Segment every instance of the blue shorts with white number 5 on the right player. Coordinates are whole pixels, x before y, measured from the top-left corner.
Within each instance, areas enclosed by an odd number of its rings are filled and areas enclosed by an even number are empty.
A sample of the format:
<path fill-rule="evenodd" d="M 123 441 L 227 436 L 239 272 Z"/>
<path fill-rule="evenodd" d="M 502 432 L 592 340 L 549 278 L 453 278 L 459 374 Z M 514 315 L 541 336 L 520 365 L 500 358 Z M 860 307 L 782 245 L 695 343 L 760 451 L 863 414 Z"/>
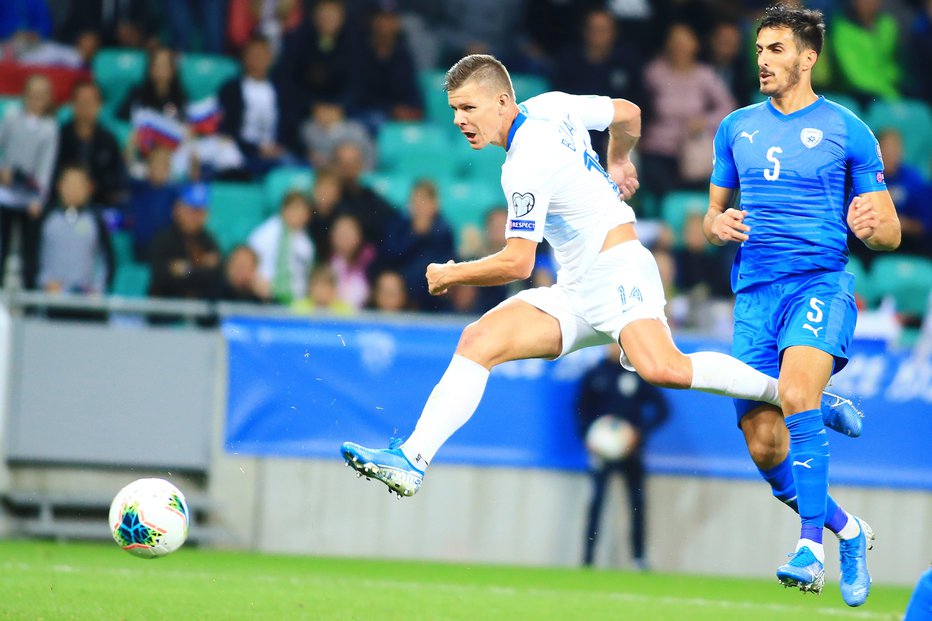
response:
<path fill-rule="evenodd" d="M 783 351 L 808 345 L 835 357 L 838 373 L 848 364 L 858 309 L 854 276 L 819 272 L 742 291 L 735 298 L 732 355 L 770 377 L 779 377 Z M 738 425 L 759 401 L 735 399 Z"/>

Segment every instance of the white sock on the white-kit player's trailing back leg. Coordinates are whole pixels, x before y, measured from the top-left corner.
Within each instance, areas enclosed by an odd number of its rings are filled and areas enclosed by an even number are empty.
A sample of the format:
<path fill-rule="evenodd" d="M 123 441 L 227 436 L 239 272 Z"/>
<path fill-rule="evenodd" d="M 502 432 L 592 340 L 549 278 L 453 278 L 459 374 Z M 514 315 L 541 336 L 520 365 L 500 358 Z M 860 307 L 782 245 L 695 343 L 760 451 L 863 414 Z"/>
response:
<path fill-rule="evenodd" d="M 687 354 L 693 362 L 690 388 L 734 399 L 763 401 L 780 406 L 777 380 L 752 369 L 737 358 L 714 351 Z"/>

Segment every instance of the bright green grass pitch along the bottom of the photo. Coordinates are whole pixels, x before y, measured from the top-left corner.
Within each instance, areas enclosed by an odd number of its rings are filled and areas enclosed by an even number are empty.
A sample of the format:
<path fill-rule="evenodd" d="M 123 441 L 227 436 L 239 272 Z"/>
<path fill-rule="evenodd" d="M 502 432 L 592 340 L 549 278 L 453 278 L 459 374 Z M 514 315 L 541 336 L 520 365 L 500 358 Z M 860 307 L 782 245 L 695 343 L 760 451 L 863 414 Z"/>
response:
<path fill-rule="evenodd" d="M 851 609 L 837 584 L 0 541 L 2 621 L 895 621 L 908 599 L 875 586 Z"/>

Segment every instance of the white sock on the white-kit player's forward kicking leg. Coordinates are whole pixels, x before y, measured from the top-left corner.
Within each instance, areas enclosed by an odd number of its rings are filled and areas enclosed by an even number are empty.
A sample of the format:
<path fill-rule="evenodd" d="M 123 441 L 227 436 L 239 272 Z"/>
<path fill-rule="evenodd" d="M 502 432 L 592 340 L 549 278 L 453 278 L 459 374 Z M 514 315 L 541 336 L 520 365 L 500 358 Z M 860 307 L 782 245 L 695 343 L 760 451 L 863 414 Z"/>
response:
<path fill-rule="evenodd" d="M 489 371 L 469 358 L 454 355 L 424 405 L 414 433 L 401 450 L 416 468 L 424 470 L 437 450 L 472 416 L 489 379 Z"/>

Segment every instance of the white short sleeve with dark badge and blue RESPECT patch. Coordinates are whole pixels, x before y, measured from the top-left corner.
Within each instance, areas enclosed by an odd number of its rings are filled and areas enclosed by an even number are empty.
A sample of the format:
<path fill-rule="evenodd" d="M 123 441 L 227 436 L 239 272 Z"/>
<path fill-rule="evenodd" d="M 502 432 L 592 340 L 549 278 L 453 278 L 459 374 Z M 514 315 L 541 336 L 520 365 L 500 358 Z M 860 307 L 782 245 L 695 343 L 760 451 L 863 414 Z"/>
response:
<path fill-rule="evenodd" d="M 539 157 L 539 150 L 533 145 L 522 145 L 524 153 L 536 156 L 516 157 L 502 175 L 502 190 L 508 203 L 508 222 L 505 225 L 505 238 L 520 237 L 540 242 L 544 239 L 544 224 L 547 221 L 547 208 L 554 191 L 553 170 L 550 166 L 535 165 L 546 162 Z M 535 152 L 537 151 L 537 152 Z"/>

